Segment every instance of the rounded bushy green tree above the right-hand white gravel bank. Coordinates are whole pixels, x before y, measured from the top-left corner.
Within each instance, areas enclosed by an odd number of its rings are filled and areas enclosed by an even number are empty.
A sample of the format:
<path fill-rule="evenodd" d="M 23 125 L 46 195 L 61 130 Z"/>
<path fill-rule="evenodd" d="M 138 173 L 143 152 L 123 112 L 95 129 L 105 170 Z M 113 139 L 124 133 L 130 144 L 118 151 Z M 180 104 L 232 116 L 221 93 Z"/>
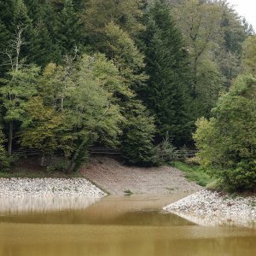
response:
<path fill-rule="evenodd" d="M 194 138 L 203 166 L 219 172 L 230 189 L 253 189 L 256 157 L 256 79 L 243 75 L 221 96 L 210 120 L 199 119 Z"/>

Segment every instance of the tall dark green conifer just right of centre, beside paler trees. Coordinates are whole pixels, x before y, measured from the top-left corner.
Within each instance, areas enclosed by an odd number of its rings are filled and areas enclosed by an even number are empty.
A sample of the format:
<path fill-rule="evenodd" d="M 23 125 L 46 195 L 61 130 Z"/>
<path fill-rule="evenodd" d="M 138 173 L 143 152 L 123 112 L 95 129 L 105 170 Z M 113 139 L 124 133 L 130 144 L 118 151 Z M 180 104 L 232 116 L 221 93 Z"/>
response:
<path fill-rule="evenodd" d="M 188 60 L 181 32 L 164 3 L 157 1 L 146 16 L 143 33 L 148 86 L 140 95 L 154 113 L 158 138 L 168 132 L 176 144 L 185 143 L 190 134 L 187 113 Z"/>

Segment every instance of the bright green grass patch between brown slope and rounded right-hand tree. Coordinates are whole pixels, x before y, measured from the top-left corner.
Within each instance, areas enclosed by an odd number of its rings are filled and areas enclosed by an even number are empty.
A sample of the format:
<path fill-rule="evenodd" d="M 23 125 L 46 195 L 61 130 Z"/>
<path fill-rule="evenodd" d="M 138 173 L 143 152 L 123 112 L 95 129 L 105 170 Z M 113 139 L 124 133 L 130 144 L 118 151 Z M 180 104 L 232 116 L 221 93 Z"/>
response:
<path fill-rule="evenodd" d="M 203 170 L 201 166 L 191 166 L 181 161 L 175 161 L 172 166 L 183 171 L 185 177 L 189 181 L 194 181 L 195 183 L 203 187 L 206 187 L 207 184 L 211 183 L 213 180 L 212 177 L 207 173 L 207 171 Z"/>

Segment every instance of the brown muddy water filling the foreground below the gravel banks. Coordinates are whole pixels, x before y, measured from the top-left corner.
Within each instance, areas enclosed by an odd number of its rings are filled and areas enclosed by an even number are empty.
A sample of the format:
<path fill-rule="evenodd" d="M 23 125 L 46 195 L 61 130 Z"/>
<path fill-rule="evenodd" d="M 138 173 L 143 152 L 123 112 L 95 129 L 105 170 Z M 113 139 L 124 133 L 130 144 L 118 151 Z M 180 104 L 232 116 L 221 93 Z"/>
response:
<path fill-rule="evenodd" d="M 256 255 L 256 230 L 161 211 L 183 196 L 0 199 L 0 256 Z"/>

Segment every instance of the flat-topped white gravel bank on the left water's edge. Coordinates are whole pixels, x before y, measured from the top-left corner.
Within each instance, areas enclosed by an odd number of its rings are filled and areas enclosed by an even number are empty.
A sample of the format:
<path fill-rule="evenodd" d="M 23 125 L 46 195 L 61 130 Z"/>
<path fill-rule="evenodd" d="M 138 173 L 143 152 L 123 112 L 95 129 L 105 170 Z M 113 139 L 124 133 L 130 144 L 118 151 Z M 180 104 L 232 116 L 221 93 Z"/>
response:
<path fill-rule="evenodd" d="M 0 199 L 26 196 L 88 196 L 106 193 L 85 178 L 0 178 Z"/>

